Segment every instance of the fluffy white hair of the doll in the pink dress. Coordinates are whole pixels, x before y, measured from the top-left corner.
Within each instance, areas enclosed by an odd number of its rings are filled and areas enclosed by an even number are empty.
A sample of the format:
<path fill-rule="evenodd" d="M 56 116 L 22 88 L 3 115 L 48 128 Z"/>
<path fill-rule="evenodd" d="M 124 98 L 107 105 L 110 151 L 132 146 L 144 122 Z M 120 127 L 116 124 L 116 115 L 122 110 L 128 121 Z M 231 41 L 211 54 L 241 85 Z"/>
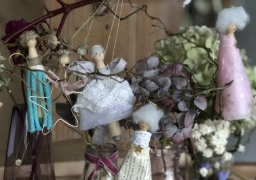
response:
<path fill-rule="evenodd" d="M 249 20 L 250 16 L 243 7 L 226 8 L 218 13 L 216 28 L 219 32 L 225 33 L 228 25 L 234 24 L 237 30 L 243 30 Z"/>

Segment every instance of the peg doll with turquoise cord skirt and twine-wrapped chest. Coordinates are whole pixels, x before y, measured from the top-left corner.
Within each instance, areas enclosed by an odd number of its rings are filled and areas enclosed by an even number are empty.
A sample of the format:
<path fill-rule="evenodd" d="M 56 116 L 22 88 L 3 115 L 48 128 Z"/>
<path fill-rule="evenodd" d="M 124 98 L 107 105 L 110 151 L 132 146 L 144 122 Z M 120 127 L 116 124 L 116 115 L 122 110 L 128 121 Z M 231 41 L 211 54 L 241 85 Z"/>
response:
<path fill-rule="evenodd" d="M 27 100 L 28 100 L 28 131 L 48 130 L 52 127 L 52 97 L 51 87 L 46 74 L 42 71 L 42 59 L 37 53 L 37 39 L 39 35 L 35 31 L 25 31 L 20 36 L 21 46 L 28 48 L 28 68 L 34 71 L 26 71 Z M 31 89 L 30 89 L 31 88 Z M 37 97 L 38 95 L 39 98 Z M 38 106 L 37 104 L 41 105 Z"/>

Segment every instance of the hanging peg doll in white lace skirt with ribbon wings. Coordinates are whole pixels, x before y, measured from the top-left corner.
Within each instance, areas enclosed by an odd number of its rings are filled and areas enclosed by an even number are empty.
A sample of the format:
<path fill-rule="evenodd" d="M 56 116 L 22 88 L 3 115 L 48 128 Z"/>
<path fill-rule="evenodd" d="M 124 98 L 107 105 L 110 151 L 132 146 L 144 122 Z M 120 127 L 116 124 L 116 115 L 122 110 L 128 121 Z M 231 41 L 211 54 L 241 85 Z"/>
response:
<path fill-rule="evenodd" d="M 100 45 L 92 47 L 92 59 L 101 74 L 114 74 L 126 66 L 122 58 L 115 59 L 105 66 L 105 51 Z M 94 64 L 88 61 L 75 61 L 69 65 L 70 70 L 92 73 Z M 77 74 L 79 75 L 79 74 Z M 84 75 L 80 75 L 85 78 Z M 80 113 L 80 130 L 88 130 L 109 124 L 113 140 L 121 141 L 119 120 L 132 115 L 133 92 L 129 83 L 116 76 L 104 77 L 95 75 L 78 95 L 74 111 Z"/>

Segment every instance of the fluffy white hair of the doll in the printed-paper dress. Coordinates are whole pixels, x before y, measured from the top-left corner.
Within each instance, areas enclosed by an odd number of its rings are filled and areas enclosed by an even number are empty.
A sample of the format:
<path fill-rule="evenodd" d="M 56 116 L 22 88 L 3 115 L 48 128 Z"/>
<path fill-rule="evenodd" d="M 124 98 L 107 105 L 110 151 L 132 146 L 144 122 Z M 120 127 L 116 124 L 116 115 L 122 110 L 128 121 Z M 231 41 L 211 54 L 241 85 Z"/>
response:
<path fill-rule="evenodd" d="M 149 131 L 151 132 L 158 131 L 159 121 L 163 116 L 164 112 L 152 104 L 146 104 L 132 114 L 133 121 L 136 124 L 149 124 Z"/>

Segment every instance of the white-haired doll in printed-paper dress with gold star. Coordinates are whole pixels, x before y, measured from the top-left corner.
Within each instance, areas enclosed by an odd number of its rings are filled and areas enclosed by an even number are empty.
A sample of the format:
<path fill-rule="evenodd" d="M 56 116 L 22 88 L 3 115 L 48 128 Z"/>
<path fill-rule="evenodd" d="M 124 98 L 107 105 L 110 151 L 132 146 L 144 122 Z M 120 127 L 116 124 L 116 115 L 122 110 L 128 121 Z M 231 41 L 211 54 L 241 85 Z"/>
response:
<path fill-rule="evenodd" d="M 163 111 L 152 104 L 144 105 L 132 114 L 133 121 L 138 124 L 140 131 L 134 132 L 131 149 L 125 156 L 117 180 L 152 179 L 149 142 L 151 132 L 158 131 L 163 115 Z"/>

